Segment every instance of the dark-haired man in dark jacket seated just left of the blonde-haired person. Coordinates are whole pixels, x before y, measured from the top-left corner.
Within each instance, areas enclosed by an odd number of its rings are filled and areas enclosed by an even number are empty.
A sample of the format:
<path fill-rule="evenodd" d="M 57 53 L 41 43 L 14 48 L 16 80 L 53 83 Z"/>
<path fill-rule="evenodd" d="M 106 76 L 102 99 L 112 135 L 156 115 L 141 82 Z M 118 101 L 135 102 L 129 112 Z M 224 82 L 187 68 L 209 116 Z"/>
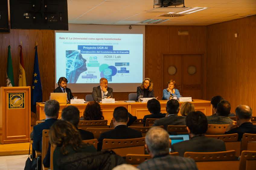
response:
<path fill-rule="evenodd" d="M 186 117 L 178 116 L 180 110 L 180 104 L 178 100 L 168 100 L 166 104 L 167 116 L 158 120 L 155 120 L 153 126 L 164 126 L 167 129 L 168 125 L 186 125 Z"/>

